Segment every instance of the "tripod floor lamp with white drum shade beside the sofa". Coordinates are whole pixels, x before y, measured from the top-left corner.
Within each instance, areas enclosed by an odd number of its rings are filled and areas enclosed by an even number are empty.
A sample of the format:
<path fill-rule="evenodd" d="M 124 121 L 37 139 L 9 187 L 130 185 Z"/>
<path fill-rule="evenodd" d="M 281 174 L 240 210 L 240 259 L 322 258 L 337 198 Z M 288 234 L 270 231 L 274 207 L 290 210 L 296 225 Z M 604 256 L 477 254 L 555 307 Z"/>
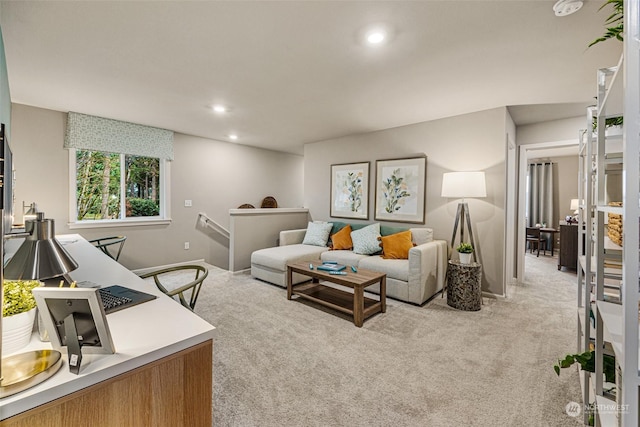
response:
<path fill-rule="evenodd" d="M 477 261 L 476 244 L 473 240 L 471 229 L 471 217 L 469 216 L 469 205 L 464 201 L 468 197 L 487 197 L 487 186 L 485 184 L 484 172 L 447 172 L 442 175 L 442 197 L 459 199 L 456 221 L 451 235 L 451 247 L 453 248 L 460 225 L 460 243 L 464 242 L 464 226 L 467 223 L 469 230 L 469 243 L 473 246 L 473 259 Z"/>

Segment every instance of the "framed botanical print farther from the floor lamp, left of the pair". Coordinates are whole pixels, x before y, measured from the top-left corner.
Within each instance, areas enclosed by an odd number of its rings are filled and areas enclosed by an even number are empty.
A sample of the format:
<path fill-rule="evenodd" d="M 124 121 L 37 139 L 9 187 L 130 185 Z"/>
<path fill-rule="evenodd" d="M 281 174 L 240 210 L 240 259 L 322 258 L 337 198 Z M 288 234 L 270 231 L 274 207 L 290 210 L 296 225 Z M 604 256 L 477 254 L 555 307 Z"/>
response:
<path fill-rule="evenodd" d="M 329 215 L 369 219 L 369 162 L 331 165 Z"/>

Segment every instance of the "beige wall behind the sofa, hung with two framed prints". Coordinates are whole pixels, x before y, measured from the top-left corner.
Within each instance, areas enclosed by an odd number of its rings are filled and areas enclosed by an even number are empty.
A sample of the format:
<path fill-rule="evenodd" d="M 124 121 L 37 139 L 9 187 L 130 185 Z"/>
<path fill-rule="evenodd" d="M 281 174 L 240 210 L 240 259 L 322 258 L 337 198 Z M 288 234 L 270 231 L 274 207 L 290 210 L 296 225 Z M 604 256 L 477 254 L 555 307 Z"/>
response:
<path fill-rule="evenodd" d="M 496 108 L 307 144 L 304 149 L 305 206 L 314 220 L 331 220 L 331 165 L 370 161 L 369 221 L 352 222 L 373 222 L 375 161 L 424 153 L 427 155 L 426 226 L 434 229 L 435 238 L 450 241 L 458 200 L 440 197 L 442 174 L 483 170 L 487 197 L 467 201 L 476 244 L 480 246 L 483 290 L 502 295 L 507 116 L 506 108 Z"/>

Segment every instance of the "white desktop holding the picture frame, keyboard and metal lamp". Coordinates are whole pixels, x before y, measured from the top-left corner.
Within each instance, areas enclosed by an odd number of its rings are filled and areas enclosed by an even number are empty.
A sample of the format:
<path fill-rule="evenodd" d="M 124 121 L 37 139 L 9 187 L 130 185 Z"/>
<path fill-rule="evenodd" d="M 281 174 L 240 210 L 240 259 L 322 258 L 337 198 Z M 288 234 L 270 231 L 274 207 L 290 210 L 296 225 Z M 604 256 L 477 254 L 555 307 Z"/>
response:
<path fill-rule="evenodd" d="M 107 315 L 115 354 L 83 354 L 80 375 L 75 375 L 69 372 L 67 355 L 63 353 L 63 365 L 51 378 L 0 399 L 0 420 L 213 338 L 213 326 L 164 295 L 153 283 L 145 282 L 107 257 L 80 235 L 62 235 L 57 239 L 79 265 L 70 273 L 73 280 L 88 280 L 100 286 L 122 285 L 158 298 Z M 36 333 L 31 343 L 17 353 L 45 348 L 51 348 L 50 343 L 40 341 Z"/>

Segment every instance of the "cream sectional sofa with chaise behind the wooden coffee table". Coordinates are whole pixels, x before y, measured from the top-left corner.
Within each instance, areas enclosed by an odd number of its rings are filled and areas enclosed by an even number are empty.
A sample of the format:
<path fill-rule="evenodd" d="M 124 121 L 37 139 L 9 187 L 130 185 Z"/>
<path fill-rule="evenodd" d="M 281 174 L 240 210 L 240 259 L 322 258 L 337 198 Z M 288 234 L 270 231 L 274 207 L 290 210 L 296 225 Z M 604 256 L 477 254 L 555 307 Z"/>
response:
<path fill-rule="evenodd" d="M 356 226 L 357 227 L 357 226 Z M 387 227 L 387 234 L 398 230 Z M 251 255 L 253 277 L 286 287 L 287 264 L 295 261 L 336 261 L 387 274 L 387 296 L 414 304 L 423 304 L 444 287 L 448 259 L 448 245 L 433 240 L 430 228 L 409 228 L 416 246 L 409 249 L 408 259 L 384 259 L 380 255 L 361 255 L 351 250 L 331 250 L 328 246 L 303 244 L 305 229 L 280 232 L 280 246 L 260 249 Z M 382 235 L 385 235 L 383 227 Z M 294 283 L 309 280 L 308 276 L 293 275 Z M 379 285 L 366 290 L 379 292 Z"/>

